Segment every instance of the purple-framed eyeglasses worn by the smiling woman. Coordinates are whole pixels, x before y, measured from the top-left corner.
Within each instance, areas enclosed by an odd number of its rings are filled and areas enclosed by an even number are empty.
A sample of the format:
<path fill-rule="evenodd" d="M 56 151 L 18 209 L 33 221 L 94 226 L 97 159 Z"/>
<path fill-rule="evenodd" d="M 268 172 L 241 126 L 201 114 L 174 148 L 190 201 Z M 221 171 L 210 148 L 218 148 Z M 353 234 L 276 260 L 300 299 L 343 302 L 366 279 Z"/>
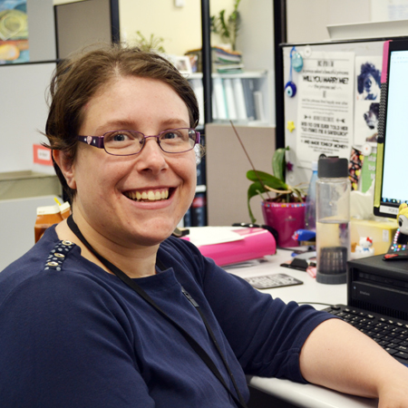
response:
<path fill-rule="evenodd" d="M 104 149 L 113 156 L 131 156 L 141 152 L 148 138 L 156 138 L 160 149 L 166 153 L 184 153 L 199 144 L 199 131 L 190 128 L 169 129 L 151 136 L 140 131 L 107 131 L 102 136 L 78 136 L 78 141 Z"/>

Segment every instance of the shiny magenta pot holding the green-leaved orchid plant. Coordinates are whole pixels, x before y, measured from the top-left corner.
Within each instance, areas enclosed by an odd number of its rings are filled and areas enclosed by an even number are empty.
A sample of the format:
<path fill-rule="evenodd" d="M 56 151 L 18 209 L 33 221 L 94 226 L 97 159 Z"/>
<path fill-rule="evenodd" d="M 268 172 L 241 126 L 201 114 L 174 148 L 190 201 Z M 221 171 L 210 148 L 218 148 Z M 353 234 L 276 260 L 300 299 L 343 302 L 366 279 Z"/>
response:
<path fill-rule="evenodd" d="M 277 230 L 277 247 L 297 247 L 299 242 L 292 238 L 297 229 L 305 228 L 304 202 L 262 201 L 265 224 Z"/>

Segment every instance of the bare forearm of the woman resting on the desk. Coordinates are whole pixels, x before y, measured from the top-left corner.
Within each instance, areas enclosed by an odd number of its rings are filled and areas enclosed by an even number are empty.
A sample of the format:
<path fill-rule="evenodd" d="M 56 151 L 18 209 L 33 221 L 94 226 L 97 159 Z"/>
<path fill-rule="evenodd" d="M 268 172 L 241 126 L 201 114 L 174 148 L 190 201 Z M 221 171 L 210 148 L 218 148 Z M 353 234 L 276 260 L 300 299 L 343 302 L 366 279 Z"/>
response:
<path fill-rule="evenodd" d="M 327 320 L 307 337 L 300 370 L 310 383 L 378 397 L 379 408 L 408 407 L 408 368 L 341 320 Z"/>

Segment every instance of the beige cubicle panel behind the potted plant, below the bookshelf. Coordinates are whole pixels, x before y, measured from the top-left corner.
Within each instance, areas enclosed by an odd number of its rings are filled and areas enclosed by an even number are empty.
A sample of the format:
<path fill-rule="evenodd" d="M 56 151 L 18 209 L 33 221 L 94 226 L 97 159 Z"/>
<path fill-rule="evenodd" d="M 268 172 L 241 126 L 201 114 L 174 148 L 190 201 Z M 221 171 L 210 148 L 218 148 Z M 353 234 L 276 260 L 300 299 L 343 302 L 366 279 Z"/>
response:
<path fill-rule="evenodd" d="M 257 170 L 272 171 L 275 128 L 236 126 Z M 251 168 L 230 124 L 209 123 L 205 129 L 207 160 L 207 209 L 209 226 L 249 222 L 247 191 Z M 251 200 L 259 224 L 263 224 L 260 199 Z"/>

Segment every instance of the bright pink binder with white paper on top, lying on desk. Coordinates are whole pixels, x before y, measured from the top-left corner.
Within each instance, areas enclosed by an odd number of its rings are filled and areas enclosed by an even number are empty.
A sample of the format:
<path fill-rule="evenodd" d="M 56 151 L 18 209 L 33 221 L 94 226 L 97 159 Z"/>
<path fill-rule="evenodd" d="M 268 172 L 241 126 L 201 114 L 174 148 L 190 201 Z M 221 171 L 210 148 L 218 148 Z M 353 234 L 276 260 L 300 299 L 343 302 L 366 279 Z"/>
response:
<path fill-rule="evenodd" d="M 189 228 L 187 239 L 219 267 L 257 259 L 277 252 L 274 236 L 265 228 Z"/>

